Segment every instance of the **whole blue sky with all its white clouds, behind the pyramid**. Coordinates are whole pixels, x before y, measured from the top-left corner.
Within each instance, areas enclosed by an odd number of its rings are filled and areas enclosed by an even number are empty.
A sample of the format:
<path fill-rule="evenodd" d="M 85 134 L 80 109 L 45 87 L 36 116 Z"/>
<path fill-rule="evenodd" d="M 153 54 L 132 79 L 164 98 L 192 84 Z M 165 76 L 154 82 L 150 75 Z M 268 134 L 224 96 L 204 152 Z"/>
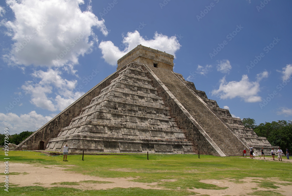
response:
<path fill-rule="evenodd" d="M 292 120 L 292 1 L 0 2 L 0 128 L 35 131 L 138 44 L 234 117 Z"/>

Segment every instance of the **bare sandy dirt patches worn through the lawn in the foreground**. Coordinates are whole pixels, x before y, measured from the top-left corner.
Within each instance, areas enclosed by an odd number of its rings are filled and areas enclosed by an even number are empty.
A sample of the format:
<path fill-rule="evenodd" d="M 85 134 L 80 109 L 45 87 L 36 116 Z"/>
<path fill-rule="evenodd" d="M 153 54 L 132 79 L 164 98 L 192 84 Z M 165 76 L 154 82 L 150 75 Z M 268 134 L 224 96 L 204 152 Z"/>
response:
<path fill-rule="evenodd" d="M 262 157 L 263 158 L 263 157 Z M 259 157 L 256 157 L 259 159 Z M 273 161 L 272 157 L 266 157 L 267 161 Z M 278 160 L 277 160 L 278 161 Z M 291 161 L 283 159 L 284 162 Z M 5 164 L 0 164 L 0 170 L 4 171 Z M 10 172 L 18 172 L 21 174 L 18 175 L 9 175 L 9 183 L 17 184 L 18 186 L 34 186 L 39 185 L 43 187 L 74 187 L 83 190 L 100 190 L 108 188 L 131 188 L 131 187 L 140 187 L 144 189 L 162 189 L 160 187 L 155 187 L 158 183 L 138 183 L 132 182 L 130 180 L 134 178 L 100 178 L 89 175 L 82 175 L 78 173 L 64 171 L 65 168 L 59 166 L 36 166 L 32 164 L 25 163 L 9 163 Z M 5 175 L 0 176 L 0 181 L 4 182 Z M 209 183 L 218 185 L 220 187 L 228 187 L 224 190 L 210 190 L 210 189 L 191 189 L 189 191 L 197 192 L 200 194 L 208 195 L 247 195 L 258 190 L 273 190 L 281 193 L 282 195 L 291 195 L 292 185 L 278 185 L 278 189 L 266 189 L 260 188 L 257 183 L 251 182 L 254 180 L 261 180 L 263 178 L 244 178 L 239 183 L 234 179 L 222 179 L 222 180 L 201 180 L 202 183 Z M 82 180 L 97 180 L 97 181 L 109 181 L 112 183 L 81 183 Z M 264 180 L 264 179 L 263 179 Z M 290 183 L 279 181 L 277 178 L 269 179 L 277 183 Z M 173 180 L 162 180 L 162 181 L 175 181 Z M 61 182 L 80 182 L 80 185 L 51 185 L 52 183 L 61 183 Z M 152 186 L 150 186 L 152 185 Z"/>

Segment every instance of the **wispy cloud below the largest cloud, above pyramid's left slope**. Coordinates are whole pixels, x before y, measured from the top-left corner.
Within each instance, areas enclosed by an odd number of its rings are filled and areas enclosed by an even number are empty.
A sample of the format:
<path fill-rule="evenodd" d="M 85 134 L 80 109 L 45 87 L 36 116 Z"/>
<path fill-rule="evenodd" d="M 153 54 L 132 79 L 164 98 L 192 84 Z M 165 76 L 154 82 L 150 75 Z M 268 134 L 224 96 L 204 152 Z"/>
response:
<path fill-rule="evenodd" d="M 61 75 L 62 72 L 58 69 L 35 70 L 32 76 L 41 80 L 26 81 L 21 88 L 26 94 L 31 94 L 30 102 L 35 106 L 50 111 L 63 110 L 81 97 L 84 92 L 74 93 L 77 80 L 69 81 L 63 79 Z M 58 95 L 55 96 L 53 91 Z"/>

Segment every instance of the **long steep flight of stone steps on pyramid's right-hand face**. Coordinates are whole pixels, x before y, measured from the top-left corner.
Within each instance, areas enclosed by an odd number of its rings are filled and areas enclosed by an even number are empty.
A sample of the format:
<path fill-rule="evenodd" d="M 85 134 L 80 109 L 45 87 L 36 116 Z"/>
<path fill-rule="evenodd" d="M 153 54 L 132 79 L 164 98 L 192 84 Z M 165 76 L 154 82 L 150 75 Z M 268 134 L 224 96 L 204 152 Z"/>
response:
<path fill-rule="evenodd" d="M 151 67 L 154 74 L 178 99 L 226 156 L 242 155 L 246 146 L 208 108 L 199 96 L 187 88 L 172 71 Z"/>

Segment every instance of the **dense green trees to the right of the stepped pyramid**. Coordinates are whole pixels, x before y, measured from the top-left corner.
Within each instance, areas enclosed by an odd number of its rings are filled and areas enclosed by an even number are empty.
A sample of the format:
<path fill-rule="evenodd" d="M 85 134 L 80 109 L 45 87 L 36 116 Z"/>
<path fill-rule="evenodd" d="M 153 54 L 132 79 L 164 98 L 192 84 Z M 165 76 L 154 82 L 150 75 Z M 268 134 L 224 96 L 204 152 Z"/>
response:
<path fill-rule="evenodd" d="M 242 119 L 245 127 L 252 128 L 259 137 L 266 137 L 272 146 L 280 146 L 283 152 L 292 150 L 292 121 L 278 120 L 256 125 L 252 118 Z"/>

